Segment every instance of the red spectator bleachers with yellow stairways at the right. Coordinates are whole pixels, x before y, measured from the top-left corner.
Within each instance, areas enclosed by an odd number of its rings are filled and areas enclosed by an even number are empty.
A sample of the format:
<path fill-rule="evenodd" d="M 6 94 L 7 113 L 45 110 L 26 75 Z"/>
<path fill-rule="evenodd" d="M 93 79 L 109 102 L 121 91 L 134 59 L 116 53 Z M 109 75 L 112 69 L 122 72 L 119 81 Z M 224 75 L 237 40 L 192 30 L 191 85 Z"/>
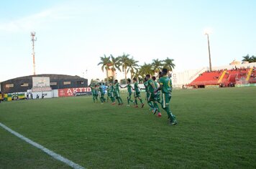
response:
<path fill-rule="evenodd" d="M 204 87 L 206 85 L 220 85 L 231 87 L 234 84 L 256 83 L 255 68 L 221 69 L 200 74 L 190 86 Z"/>

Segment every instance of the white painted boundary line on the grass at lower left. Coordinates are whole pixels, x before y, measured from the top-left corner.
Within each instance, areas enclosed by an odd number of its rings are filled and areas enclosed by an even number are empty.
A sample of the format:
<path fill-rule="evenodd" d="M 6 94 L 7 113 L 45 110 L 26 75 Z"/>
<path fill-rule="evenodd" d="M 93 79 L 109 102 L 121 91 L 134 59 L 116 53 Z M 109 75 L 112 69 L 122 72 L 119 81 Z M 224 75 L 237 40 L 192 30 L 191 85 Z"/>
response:
<path fill-rule="evenodd" d="M 76 169 L 84 169 L 81 165 L 78 165 L 76 163 L 73 163 L 73 161 L 68 160 L 67 158 L 63 158 L 63 156 L 58 155 L 57 153 L 54 153 L 53 151 L 45 148 L 44 146 L 35 143 L 34 141 L 30 140 L 27 137 L 24 137 L 23 135 L 20 135 L 18 132 L 15 132 L 14 130 L 10 129 L 9 127 L 7 127 L 6 125 L 2 124 L 0 122 L 0 126 L 3 127 L 5 130 L 11 132 L 13 135 L 19 137 L 20 139 L 24 140 L 25 142 L 29 143 L 30 145 L 33 145 L 34 147 L 44 151 L 45 153 L 47 153 L 48 155 L 52 156 L 52 158 L 55 158 L 56 160 L 60 160 L 61 162 L 69 165 L 72 168 L 76 168 Z"/>

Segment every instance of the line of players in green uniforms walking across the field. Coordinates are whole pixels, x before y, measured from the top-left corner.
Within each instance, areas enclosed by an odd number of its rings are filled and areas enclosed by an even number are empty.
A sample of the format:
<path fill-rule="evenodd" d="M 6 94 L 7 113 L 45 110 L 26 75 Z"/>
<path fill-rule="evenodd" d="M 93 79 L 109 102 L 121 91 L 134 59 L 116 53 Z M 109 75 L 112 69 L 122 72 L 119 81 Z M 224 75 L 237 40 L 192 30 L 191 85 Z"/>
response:
<path fill-rule="evenodd" d="M 159 73 L 159 79 L 158 82 L 155 81 L 155 77 L 150 77 L 150 74 L 147 74 L 145 77 L 145 91 L 147 96 L 147 104 L 150 106 L 150 110 L 155 115 L 161 117 L 160 109 L 158 107 L 158 103 L 162 106 L 163 110 L 167 112 L 168 115 L 168 122 L 170 122 L 170 125 L 176 125 L 177 120 L 175 119 L 175 115 L 170 110 L 170 99 L 171 99 L 171 92 L 172 92 L 172 82 L 170 77 L 167 76 L 168 70 L 163 69 L 162 72 Z M 109 102 L 109 99 L 111 100 L 111 104 L 115 105 L 116 100 L 118 102 L 118 105 L 123 105 L 122 98 L 120 97 L 120 90 L 121 88 L 127 88 L 128 96 L 127 96 L 127 102 L 130 106 L 130 103 L 132 102 L 134 104 L 134 107 L 138 107 L 138 100 L 140 100 L 141 107 L 144 107 L 144 103 L 142 101 L 142 97 L 140 96 L 140 90 L 142 88 L 139 87 L 139 84 L 137 82 L 136 78 L 133 78 L 134 88 L 131 84 L 131 79 L 127 79 L 127 85 L 122 87 L 120 86 L 118 80 L 114 80 L 114 84 L 109 83 L 108 87 L 103 83 L 92 85 L 91 92 L 93 95 L 93 102 L 98 102 L 98 97 L 101 101 L 101 104 L 104 102 Z M 105 99 L 105 89 L 107 91 L 107 98 Z M 132 90 L 134 90 L 134 100 L 132 100 Z M 161 91 L 161 92 L 160 92 Z M 162 93 L 162 95 L 161 95 Z M 161 98 L 160 98 L 161 97 Z"/>

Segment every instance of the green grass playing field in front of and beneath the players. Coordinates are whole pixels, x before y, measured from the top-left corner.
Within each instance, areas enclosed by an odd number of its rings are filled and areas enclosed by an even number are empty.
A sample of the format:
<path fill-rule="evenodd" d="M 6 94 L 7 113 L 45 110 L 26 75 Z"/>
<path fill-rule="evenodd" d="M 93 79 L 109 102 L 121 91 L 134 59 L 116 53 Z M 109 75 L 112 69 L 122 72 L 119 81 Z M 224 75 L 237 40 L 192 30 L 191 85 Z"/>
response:
<path fill-rule="evenodd" d="M 126 95 L 122 95 L 126 102 Z M 175 90 L 167 115 L 91 97 L 0 104 L 0 122 L 85 168 L 256 168 L 256 87 Z M 68 168 L 0 127 L 0 168 Z"/>

